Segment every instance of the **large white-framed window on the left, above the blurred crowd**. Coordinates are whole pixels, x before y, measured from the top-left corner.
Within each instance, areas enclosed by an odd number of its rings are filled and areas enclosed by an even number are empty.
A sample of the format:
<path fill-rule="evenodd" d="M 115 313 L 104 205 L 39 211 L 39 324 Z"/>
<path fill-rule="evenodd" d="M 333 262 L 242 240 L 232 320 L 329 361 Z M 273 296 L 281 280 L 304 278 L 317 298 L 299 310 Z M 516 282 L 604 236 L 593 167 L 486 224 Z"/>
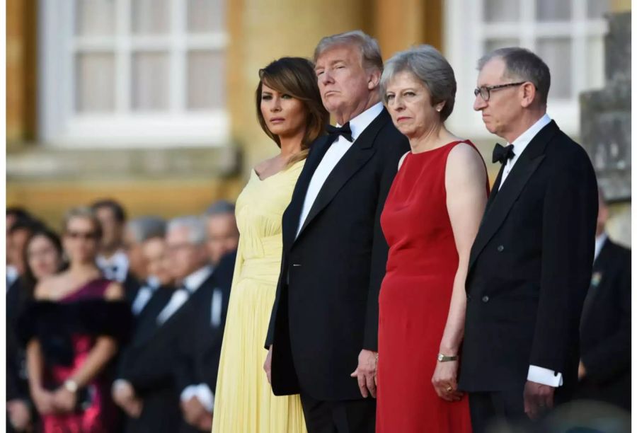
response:
<path fill-rule="evenodd" d="M 40 132 L 61 146 L 222 145 L 222 0 L 40 0 Z"/>

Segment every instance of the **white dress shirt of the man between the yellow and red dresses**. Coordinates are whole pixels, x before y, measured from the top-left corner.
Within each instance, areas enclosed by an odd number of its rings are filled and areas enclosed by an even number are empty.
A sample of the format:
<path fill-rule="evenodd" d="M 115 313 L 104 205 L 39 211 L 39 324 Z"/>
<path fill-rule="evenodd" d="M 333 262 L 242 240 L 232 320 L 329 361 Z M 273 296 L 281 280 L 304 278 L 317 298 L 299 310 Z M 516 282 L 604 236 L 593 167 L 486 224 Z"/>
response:
<path fill-rule="evenodd" d="M 352 120 L 350 120 L 350 129 L 352 129 L 352 138 L 353 142 L 349 142 L 348 139 L 343 137 L 342 135 L 338 136 L 338 139 L 335 140 L 330 146 L 330 148 L 326 151 L 325 156 L 321 159 L 319 166 L 316 167 L 316 171 L 312 175 L 309 186 L 307 187 L 307 192 L 305 194 L 305 201 L 303 202 L 303 209 L 301 211 L 301 218 L 299 219 L 299 226 L 297 228 L 297 236 L 299 236 L 299 232 L 301 231 L 301 227 L 303 226 L 307 215 L 316 200 L 316 197 L 319 195 L 321 188 L 323 187 L 323 183 L 325 183 L 328 175 L 332 173 L 334 167 L 340 161 L 341 158 L 345 155 L 345 153 L 350 150 L 352 144 L 356 142 L 356 139 L 365 131 L 365 128 L 369 126 L 370 123 L 374 121 L 376 117 L 382 112 L 383 104 L 377 103 L 376 105 L 372 105 L 367 108 L 367 110 L 357 115 Z M 336 125 L 337 127 L 341 127 L 343 125 Z"/>

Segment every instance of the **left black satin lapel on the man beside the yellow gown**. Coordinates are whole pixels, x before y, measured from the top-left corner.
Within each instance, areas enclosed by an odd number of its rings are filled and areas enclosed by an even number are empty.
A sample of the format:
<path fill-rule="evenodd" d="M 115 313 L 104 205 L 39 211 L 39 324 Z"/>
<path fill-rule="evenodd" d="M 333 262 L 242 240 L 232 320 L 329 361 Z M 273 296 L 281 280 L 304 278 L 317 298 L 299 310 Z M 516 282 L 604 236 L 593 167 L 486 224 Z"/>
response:
<path fill-rule="evenodd" d="M 285 249 L 289 249 L 289 247 L 292 246 L 292 243 L 294 243 L 294 237 L 297 235 L 299 219 L 301 219 L 301 212 L 303 210 L 307 188 L 309 187 L 312 175 L 314 175 L 316 168 L 319 166 L 319 163 L 321 163 L 321 160 L 323 159 L 323 156 L 325 156 L 326 151 L 329 149 L 330 144 L 332 144 L 330 139 L 331 137 L 326 135 L 316 139 L 316 142 L 312 144 L 311 151 L 307 156 L 303 170 L 297 179 L 297 184 L 294 185 L 292 199 L 283 214 L 282 238 L 283 248 Z"/>

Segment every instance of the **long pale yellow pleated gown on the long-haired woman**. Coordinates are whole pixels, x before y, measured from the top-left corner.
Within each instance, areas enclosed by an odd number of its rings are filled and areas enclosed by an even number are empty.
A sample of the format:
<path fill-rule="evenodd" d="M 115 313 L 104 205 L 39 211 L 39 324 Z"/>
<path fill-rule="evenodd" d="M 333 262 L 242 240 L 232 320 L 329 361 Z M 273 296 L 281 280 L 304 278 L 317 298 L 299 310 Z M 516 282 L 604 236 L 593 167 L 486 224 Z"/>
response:
<path fill-rule="evenodd" d="M 236 200 L 239 250 L 224 331 L 213 433 L 306 432 L 299 396 L 272 394 L 263 348 L 281 267 L 281 218 L 304 161 L 250 180 Z"/>

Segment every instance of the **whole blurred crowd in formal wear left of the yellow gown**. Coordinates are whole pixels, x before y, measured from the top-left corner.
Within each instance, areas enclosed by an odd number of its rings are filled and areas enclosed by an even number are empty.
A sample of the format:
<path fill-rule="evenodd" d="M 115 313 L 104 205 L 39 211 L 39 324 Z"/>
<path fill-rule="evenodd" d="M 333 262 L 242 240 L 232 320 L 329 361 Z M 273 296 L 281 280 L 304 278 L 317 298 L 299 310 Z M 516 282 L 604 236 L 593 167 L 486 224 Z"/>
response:
<path fill-rule="evenodd" d="M 61 230 L 6 209 L 7 431 L 210 431 L 239 231 L 234 204 Z"/>

